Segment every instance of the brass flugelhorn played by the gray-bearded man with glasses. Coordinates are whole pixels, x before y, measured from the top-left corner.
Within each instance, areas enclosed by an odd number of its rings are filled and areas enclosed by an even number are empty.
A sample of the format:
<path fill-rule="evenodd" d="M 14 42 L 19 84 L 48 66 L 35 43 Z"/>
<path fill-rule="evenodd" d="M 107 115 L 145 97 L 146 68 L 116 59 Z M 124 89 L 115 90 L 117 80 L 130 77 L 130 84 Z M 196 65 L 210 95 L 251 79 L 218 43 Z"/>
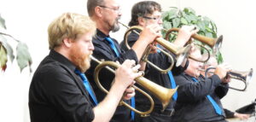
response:
<path fill-rule="evenodd" d="M 120 24 L 125 26 L 125 24 L 122 24 L 122 23 L 120 23 Z M 136 30 L 143 31 L 143 27 L 142 26 L 131 26 L 131 27 L 125 26 L 125 27 L 128 28 L 128 30 L 125 32 L 125 36 L 124 36 L 125 45 L 126 45 L 127 49 L 131 49 L 130 45 L 128 44 L 128 39 L 127 39 L 129 34 L 131 32 L 135 32 L 139 35 L 139 32 L 137 32 Z M 154 41 L 157 42 L 158 44 L 160 44 L 165 49 L 171 51 L 174 55 L 177 55 L 177 57 L 176 57 L 176 67 L 180 66 L 183 63 L 183 61 L 186 59 L 186 57 L 189 53 L 189 50 L 191 49 L 191 45 L 187 45 L 186 47 L 178 47 L 177 45 L 166 41 L 164 38 L 156 38 Z M 158 48 L 158 49 L 160 49 L 160 48 Z M 166 56 L 168 56 L 172 60 L 172 64 L 167 69 L 161 69 L 160 67 L 155 66 L 154 63 L 148 61 L 148 55 L 150 54 L 150 47 L 149 46 L 144 51 L 142 61 L 147 62 L 152 67 L 159 70 L 160 73 L 167 73 L 168 71 L 170 71 L 172 69 L 172 67 L 174 65 L 174 59 L 172 58 L 172 55 L 170 55 L 165 50 L 160 49 L 160 51 L 163 52 Z"/>

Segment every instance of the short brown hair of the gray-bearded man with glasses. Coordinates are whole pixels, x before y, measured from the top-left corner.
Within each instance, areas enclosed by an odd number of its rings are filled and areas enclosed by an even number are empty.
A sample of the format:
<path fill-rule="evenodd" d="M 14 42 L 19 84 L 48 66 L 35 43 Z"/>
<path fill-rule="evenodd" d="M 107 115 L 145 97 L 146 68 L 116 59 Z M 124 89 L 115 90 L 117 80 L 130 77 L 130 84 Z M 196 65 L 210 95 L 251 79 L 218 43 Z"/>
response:
<path fill-rule="evenodd" d="M 102 4 L 105 4 L 104 0 L 88 0 L 87 1 L 87 12 L 88 15 L 91 17 L 95 14 L 94 9 L 96 8 L 96 6 L 100 6 Z"/>

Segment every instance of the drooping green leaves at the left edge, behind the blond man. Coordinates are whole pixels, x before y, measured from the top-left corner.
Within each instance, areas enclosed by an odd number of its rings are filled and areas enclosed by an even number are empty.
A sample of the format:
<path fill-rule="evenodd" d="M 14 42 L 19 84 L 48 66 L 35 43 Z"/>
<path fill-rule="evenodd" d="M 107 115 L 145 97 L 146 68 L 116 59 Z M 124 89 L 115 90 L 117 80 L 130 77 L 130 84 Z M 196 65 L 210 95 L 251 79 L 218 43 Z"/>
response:
<path fill-rule="evenodd" d="M 0 15 L 0 70 L 2 69 L 5 71 L 7 68 L 6 63 L 8 60 L 12 62 L 14 61 L 14 50 L 8 42 L 15 41 L 18 43 L 16 46 L 16 60 L 18 62 L 18 66 L 20 67 L 20 72 L 23 70 L 23 68 L 28 66 L 30 73 L 32 73 L 32 58 L 28 51 L 27 45 L 4 31 L 6 31 L 5 20 Z"/>

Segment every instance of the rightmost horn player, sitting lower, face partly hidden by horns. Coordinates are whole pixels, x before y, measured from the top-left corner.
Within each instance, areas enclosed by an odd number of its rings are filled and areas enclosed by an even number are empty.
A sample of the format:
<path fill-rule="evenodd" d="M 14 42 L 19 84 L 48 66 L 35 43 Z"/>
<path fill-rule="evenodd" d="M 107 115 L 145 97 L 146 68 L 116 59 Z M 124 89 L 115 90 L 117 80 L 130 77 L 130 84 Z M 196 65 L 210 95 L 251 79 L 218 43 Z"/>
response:
<path fill-rule="evenodd" d="M 195 47 L 190 55 L 201 59 L 200 49 Z M 227 94 L 228 89 L 218 86 L 230 82 L 230 80 L 223 80 L 226 73 L 230 71 L 230 67 L 228 65 L 216 67 L 210 78 L 204 78 L 200 74 L 201 68 L 201 62 L 189 59 L 189 67 L 184 73 L 174 77 L 179 88 L 176 112 L 172 116 L 172 121 L 225 121 L 220 99 Z"/>

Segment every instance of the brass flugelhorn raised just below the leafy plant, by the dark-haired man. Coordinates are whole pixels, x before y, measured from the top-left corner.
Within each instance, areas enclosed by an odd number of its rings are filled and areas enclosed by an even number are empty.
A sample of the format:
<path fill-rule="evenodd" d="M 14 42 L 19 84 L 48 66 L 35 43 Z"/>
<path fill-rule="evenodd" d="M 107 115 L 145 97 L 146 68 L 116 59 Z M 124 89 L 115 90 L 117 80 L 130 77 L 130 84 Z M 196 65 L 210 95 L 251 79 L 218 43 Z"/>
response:
<path fill-rule="evenodd" d="M 172 32 L 178 32 L 179 31 L 179 28 L 176 28 L 176 27 L 173 27 L 171 29 L 169 29 L 167 32 L 166 32 L 166 40 L 169 39 L 170 37 L 170 34 Z M 195 38 L 196 40 L 200 41 L 202 44 L 207 44 L 209 47 L 211 47 L 213 49 L 213 54 L 216 54 L 219 49 L 221 48 L 221 45 L 222 45 L 222 41 L 223 41 L 223 36 L 219 36 L 218 38 L 207 38 L 205 36 L 201 36 L 199 34 L 194 34 L 191 36 L 191 38 Z M 192 41 L 189 41 L 189 43 L 192 43 Z M 201 48 L 207 50 L 207 58 L 206 59 L 195 59 L 194 57 L 192 56 L 189 56 L 191 59 L 195 60 L 195 61 L 201 61 L 201 62 L 206 62 L 209 60 L 210 58 L 210 51 L 209 49 L 207 49 L 206 47 L 202 46 L 201 44 L 196 44 L 198 46 L 200 46 Z"/>

